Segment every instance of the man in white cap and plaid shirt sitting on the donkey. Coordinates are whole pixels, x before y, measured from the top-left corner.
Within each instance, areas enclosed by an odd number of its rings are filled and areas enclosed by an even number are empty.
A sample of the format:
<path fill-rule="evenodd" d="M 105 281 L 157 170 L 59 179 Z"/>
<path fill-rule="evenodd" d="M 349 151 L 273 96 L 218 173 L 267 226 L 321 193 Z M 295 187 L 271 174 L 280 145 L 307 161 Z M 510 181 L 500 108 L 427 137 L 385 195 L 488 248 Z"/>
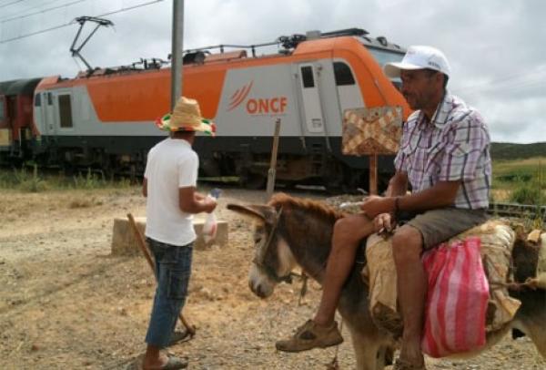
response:
<path fill-rule="evenodd" d="M 411 46 L 400 63 L 384 70 L 401 78 L 401 92 L 415 110 L 404 124 L 396 172 L 384 197 L 368 197 L 362 212 L 336 222 L 319 310 L 276 345 L 280 351 L 299 352 L 340 344 L 334 316 L 359 243 L 398 224 L 392 252 L 404 332 L 394 368 L 424 369 L 420 339 L 427 281 L 420 256 L 487 220 L 490 135 L 480 114 L 446 89 L 450 66 L 440 50 Z"/>

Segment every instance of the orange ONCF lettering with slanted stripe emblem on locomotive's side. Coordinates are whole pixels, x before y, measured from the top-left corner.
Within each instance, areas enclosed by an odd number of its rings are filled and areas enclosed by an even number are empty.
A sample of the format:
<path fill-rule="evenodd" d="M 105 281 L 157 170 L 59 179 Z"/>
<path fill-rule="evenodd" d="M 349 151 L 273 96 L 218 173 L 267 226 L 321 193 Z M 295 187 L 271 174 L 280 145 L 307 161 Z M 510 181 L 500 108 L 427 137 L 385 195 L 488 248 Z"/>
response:
<path fill-rule="evenodd" d="M 287 97 L 274 97 L 274 98 L 248 98 L 250 89 L 254 81 L 249 82 L 244 87 L 237 89 L 230 98 L 229 107 L 227 111 L 231 111 L 245 102 L 245 108 L 248 114 L 261 115 L 261 114 L 284 114 L 288 106 Z"/>

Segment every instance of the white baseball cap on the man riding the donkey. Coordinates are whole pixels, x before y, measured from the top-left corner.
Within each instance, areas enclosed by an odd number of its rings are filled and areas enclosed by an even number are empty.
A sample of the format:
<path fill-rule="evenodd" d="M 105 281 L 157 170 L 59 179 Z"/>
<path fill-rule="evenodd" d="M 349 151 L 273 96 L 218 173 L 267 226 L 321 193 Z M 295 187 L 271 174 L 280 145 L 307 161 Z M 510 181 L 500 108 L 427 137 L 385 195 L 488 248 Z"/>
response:
<path fill-rule="evenodd" d="M 450 76 L 450 63 L 448 58 L 438 50 L 431 46 L 410 46 L 406 55 L 399 63 L 387 63 L 383 70 L 388 77 L 400 77 L 402 69 L 434 69 Z"/>

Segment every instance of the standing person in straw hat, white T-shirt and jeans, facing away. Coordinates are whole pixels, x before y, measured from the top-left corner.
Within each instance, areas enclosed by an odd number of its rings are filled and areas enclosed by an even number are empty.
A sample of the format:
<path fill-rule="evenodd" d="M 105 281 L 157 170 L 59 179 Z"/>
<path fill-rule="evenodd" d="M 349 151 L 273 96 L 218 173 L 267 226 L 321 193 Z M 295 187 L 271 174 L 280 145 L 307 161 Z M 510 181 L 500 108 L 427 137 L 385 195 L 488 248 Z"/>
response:
<path fill-rule="evenodd" d="M 156 261 L 157 289 L 147 330 L 142 368 L 180 369 L 187 362 L 160 350 L 169 344 L 187 296 L 194 213 L 212 212 L 216 200 L 197 193 L 199 159 L 191 148 L 197 131 L 214 135 L 214 123 L 201 117 L 196 100 L 180 98 L 172 115 L 158 119 L 169 138 L 150 149 L 142 192 L 147 197 L 146 236 Z"/>

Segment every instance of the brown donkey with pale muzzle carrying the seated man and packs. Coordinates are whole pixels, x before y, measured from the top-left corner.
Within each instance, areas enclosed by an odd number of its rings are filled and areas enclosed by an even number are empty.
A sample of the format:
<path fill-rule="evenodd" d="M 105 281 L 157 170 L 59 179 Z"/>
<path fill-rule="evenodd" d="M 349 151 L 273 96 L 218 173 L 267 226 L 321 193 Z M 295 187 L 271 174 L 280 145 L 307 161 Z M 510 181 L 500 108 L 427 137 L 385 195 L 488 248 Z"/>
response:
<path fill-rule="evenodd" d="M 258 297 L 267 298 L 278 283 L 288 281 L 296 265 L 322 284 L 334 223 L 343 213 L 322 202 L 283 193 L 276 194 L 267 205 L 228 204 L 227 209 L 258 221 L 254 231 L 256 252 L 248 276 L 250 290 Z M 521 246 L 514 248 L 514 253 L 517 254 L 515 261 L 521 263 L 515 275 L 523 282 L 533 275 L 533 263 L 536 269 L 538 251 Z M 379 370 L 391 363 L 397 343 L 392 334 L 379 329 L 372 321 L 368 287 L 360 276 L 362 267 L 355 263 L 350 272 L 338 311 L 349 327 L 357 368 Z M 486 347 L 500 341 L 511 328 L 517 328 L 529 335 L 546 357 L 546 292 L 521 291 L 514 296 L 521 300 L 520 310 L 511 325 L 488 336 Z"/>

